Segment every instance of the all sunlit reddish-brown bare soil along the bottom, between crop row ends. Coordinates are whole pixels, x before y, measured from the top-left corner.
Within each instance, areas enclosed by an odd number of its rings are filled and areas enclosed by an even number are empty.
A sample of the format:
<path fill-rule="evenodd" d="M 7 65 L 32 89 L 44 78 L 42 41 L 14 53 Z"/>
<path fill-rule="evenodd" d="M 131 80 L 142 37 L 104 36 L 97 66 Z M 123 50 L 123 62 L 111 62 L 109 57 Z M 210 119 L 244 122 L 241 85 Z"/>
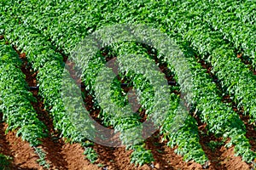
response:
<path fill-rule="evenodd" d="M 22 141 L 15 136 L 15 133 L 3 134 L 3 130 L 7 127 L 4 123 L 0 125 L 0 152 L 4 155 L 13 157 L 12 169 L 43 169 L 38 166 L 36 160 L 38 156 L 28 143 Z M 156 133 L 147 140 L 147 147 L 154 154 L 153 165 L 145 165 L 143 167 L 135 167 L 130 164 L 131 150 L 125 148 L 109 148 L 95 144 L 95 150 L 99 154 L 96 165 L 90 164 L 84 159 L 83 148 L 79 144 L 65 144 L 63 140 L 44 141 L 43 149 L 48 153 L 47 160 L 52 163 L 50 169 L 103 169 L 108 167 L 111 169 L 203 169 L 201 165 L 194 161 L 184 162 L 182 156 L 177 156 L 174 149 L 166 146 L 166 143 L 160 143 L 160 137 Z M 203 149 L 209 158 L 208 169 L 249 169 L 249 165 L 241 161 L 241 157 L 234 156 L 233 147 L 230 149 L 221 146 L 212 151 L 206 144 L 211 140 L 208 137 L 201 139 Z M 54 144 L 53 144 L 54 143 Z M 45 145 L 47 147 L 45 148 Z M 100 166 L 101 165 L 101 166 Z"/>

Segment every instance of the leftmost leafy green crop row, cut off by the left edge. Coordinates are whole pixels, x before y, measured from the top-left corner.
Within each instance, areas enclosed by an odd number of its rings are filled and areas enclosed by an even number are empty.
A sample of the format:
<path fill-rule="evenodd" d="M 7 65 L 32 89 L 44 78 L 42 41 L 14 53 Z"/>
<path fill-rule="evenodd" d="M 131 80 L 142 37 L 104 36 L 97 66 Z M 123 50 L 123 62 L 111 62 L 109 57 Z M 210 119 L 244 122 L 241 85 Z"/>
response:
<path fill-rule="evenodd" d="M 6 133 L 17 130 L 17 136 L 26 140 L 38 154 L 38 162 L 49 167 L 45 161 L 45 153 L 38 146 L 41 139 L 47 137 L 48 131 L 38 119 L 37 112 L 31 102 L 36 99 L 28 91 L 26 75 L 20 70 L 22 61 L 11 45 L 0 41 L 0 112 L 3 121 L 7 122 Z"/>

